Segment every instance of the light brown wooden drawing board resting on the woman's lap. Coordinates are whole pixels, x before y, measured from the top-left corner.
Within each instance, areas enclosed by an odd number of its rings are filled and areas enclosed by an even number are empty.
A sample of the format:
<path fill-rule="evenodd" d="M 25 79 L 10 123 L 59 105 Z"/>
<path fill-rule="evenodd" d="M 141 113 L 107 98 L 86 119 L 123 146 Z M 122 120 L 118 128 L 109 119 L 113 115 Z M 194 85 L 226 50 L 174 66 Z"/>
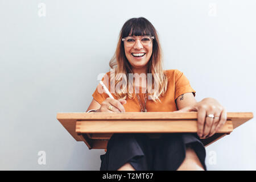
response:
<path fill-rule="evenodd" d="M 228 113 L 224 126 L 212 137 L 200 138 L 205 146 L 230 134 L 253 118 L 253 113 Z M 57 113 L 57 120 L 89 149 L 105 149 L 114 133 L 197 133 L 197 112 Z"/>

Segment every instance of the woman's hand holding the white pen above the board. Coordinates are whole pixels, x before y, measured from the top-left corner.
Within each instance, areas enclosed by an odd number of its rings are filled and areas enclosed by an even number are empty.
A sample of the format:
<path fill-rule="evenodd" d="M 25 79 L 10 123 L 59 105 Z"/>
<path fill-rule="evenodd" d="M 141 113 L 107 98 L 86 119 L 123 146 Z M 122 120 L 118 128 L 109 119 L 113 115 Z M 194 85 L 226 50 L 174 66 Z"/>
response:
<path fill-rule="evenodd" d="M 123 104 L 126 104 L 126 100 L 115 100 L 108 97 L 101 103 L 101 107 L 97 110 L 97 112 L 125 113 L 125 107 L 123 107 Z M 110 105 L 112 106 L 112 110 L 109 109 Z"/>

